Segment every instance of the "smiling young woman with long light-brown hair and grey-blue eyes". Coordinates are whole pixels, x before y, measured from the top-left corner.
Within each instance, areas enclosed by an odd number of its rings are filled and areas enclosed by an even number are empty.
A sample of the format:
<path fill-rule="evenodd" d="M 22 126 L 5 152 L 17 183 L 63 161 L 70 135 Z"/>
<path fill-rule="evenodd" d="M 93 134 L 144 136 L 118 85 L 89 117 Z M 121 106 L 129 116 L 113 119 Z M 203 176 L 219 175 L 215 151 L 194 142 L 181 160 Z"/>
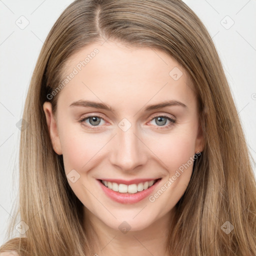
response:
<path fill-rule="evenodd" d="M 237 111 L 182 1 L 74 1 L 42 47 L 23 119 L 21 236 L 0 252 L 256 254 Z"/>

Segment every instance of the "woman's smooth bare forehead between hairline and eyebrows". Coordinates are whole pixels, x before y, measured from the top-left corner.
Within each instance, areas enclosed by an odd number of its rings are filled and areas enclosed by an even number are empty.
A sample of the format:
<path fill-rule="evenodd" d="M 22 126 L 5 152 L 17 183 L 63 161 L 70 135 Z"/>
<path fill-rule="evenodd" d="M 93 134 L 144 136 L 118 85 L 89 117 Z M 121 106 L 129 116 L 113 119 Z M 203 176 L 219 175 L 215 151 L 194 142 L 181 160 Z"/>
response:
<path fill-rule="evenodd" d="M 130 108 L 168 99 L 195 103 L 185 69 L 151 47 L 128 47 L 114 41 L 87 45 L 68 59 L 64 79 L 59 95 L 63 102 L 90 99 L 115 107 L 129 104 Z"/>

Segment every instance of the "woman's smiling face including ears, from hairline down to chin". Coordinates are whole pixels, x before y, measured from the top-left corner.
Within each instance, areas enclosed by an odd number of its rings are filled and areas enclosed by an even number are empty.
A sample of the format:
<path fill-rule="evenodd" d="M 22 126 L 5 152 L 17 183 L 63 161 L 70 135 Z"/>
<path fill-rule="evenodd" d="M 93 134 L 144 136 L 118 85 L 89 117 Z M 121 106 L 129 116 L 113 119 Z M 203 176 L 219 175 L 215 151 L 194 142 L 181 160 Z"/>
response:
<path fill-rule="evenodd" d="M 48 95 L 59 93 L 55 117 L 49 102 L 43 108 L 85 210 L 114 229 L 168 216 L 203 149 L 186 71 L 160 50 L 108 40 L 74 54 L 64 73 L 60 92 Z"/>

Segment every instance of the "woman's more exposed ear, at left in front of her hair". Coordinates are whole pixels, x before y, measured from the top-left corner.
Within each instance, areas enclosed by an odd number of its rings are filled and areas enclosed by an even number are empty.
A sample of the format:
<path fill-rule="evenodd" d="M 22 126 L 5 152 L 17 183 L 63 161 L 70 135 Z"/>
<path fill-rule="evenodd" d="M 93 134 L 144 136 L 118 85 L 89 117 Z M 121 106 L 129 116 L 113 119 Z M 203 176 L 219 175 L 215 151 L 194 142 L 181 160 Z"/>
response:
<path fill-rule="evenodd" d="M 62 154 L 60 139 L 59 139 L 58 130 L 57 130 L 57 122 L 52 113 L 52 108 L 51 108 L 50 102 L 45 101 L 43 103 L 43 111 L 45 113 L 47 127 L 48 127 L 48 131 L 50 134 L 50 139 L 51 139 L 51 144 L 52 144 L 53 150 L 57 154 Z"/>

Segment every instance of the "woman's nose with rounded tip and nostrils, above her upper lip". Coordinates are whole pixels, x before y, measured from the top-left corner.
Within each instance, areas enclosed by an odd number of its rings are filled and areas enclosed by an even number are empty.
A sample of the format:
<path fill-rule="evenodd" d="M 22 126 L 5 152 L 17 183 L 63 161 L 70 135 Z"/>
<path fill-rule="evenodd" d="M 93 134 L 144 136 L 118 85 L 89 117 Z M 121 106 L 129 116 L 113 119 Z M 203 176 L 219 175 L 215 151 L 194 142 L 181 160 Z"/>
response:
<path fill-rule="evenodd" d="M 126 131 L 116 127 L 111 141 L 110 163 L 122 171 L 133 171 L 147 161 L 146 146 L 133 125 Z M 137 170 L 137 168 L 136 168 Z"/>

